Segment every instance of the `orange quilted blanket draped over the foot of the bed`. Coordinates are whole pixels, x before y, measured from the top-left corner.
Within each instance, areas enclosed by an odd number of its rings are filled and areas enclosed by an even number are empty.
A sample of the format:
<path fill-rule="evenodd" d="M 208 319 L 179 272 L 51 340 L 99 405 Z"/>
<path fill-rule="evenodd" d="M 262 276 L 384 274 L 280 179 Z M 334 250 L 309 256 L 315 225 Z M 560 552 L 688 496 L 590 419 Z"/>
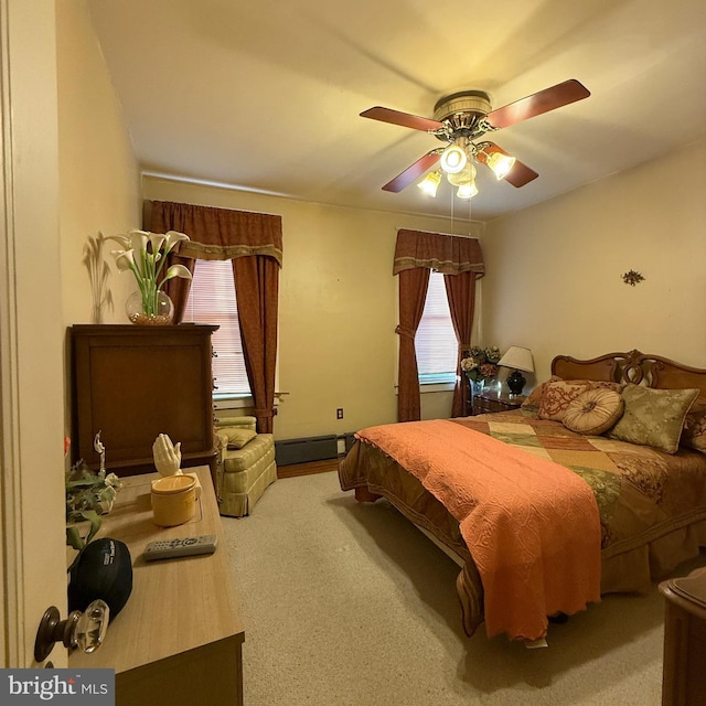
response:
<path fill-rule="evenodd" d="M 536 640 L 547 616 L 599 600 L 598 506 L 576 473 L 445 419 L 355 436 L 417 477 L 458 520 L 483 584 L 489 637 Z"/>

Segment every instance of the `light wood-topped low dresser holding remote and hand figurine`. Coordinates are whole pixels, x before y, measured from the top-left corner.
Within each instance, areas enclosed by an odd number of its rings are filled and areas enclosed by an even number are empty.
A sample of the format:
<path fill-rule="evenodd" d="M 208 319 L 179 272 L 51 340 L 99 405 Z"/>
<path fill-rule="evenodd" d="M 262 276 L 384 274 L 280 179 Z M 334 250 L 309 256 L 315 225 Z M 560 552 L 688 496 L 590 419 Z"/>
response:
<path fill-rule="evenodd" d="M 118 706 L 243 704 L 243 619 L 207 467 L 196 516 L 178 527 L 152 522 L 150 481 L 124 479 L 115 506 L 97 536 L 125 542 L 132 557 L 132 593 L 93 654 L 72 653 L 71 668 L 110 667 Z M 153 539 L 215 534 L 213 555 L 145 561 Z"/>

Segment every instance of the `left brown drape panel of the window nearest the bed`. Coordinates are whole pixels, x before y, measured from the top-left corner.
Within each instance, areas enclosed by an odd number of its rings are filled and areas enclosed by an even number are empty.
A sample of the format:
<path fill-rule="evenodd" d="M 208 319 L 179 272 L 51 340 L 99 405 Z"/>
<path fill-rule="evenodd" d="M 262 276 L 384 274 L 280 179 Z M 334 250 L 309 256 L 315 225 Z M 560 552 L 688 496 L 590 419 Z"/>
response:
<path fill-rule="evenodd" d="M 395 330 L 399 334 L 397 421 L 416 421 L 421 418 L 415 334 L 424 313 L 429 272 L 427 267 L 399 272 L 399 325 Z"/>

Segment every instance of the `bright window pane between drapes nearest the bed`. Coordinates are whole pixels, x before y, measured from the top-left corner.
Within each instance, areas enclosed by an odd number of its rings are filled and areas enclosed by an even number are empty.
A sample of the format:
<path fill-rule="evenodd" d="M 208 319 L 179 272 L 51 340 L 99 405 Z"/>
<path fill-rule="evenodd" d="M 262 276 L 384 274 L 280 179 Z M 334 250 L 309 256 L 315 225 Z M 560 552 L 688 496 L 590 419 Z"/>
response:
<path fill-rule="evenodd" d="M 417 329 L 415 347 L 421 384 L 454 382 L 459 344 L 451 323 L 441 272 L 432 271 L 429 276 L 427 300 Z"/>

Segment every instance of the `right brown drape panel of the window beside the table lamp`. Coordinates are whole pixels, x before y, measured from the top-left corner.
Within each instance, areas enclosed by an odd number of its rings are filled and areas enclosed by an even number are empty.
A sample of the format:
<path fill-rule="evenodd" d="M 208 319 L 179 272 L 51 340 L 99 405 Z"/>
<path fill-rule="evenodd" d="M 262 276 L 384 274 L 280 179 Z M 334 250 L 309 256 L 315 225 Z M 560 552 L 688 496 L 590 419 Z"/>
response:
<path fill-rule="evenodd" d="M 461 357 L 471 347 L 471 331 L 475 310 L 475 272 L 445 275 L 443 284 L 446 285 L 446 296 L 449 300 L 453 331 L 456 331 L 456 339 L 459 342 L 451 416 L 466 417 L 470 414 L 468 408 L 469 383 L 468 377 L 461 371 Z"/>

